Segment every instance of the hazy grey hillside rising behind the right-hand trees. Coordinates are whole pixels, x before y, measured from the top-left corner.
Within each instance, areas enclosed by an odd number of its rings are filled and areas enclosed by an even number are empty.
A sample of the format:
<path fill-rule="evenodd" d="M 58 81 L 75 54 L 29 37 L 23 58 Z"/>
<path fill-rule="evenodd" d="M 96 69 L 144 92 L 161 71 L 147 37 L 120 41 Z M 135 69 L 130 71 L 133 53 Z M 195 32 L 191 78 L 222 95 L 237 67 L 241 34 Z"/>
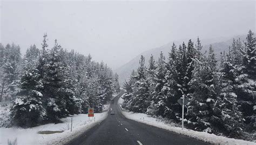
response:
<path fill-rule="evenodd" d="M 202 52 L 205 52 L 206 50 L 208 50 L 209 46 L 212 45 L 214 48 L 214 52 L 215 52 L 215 54 L 217 54 L 217 58 L 218 58 L 221 51 L 228 50 L 228 47 L 232 44 L 233 39 L 239 39 L 239 38 L 241 39 L 241 41 L 244 41 L 246 38 L 246 35 L 237 35 L 232 38 L 220 37 L 220 38 L 215 38 L 215 39 L 201 39 L 201 43 L 203 45 Z M 188 39 L 174 41 L 174 43 L 178 47 L 180 44 L 183 43 L 183 41 L 187 45 Z M 193 42 L 196 42 L 196 39 L 194 39 Z M 119 75 L 120 85 L 123 85 L 125 79 L 129 78 L 133 69 L 136 70 L 138 68 L 138 66 L 139 66 L 138 62 L 140 59 L 140 55 L 143 55 L 145 57 L 146 66 L 149 64 L 148 61 L 149 61 L 151 54 L 153 54 L 154 58 L 156 60 L 158 60 L 160 52 L 163 52 L 165 55 L 165 58 L 167 59 L 168 54 L 170 52 L 170 48 L 172 46 L 172 43 L 173 42 L 169 42 L 168 44 L 160 46 L 158 48 L 153 48 L 153 49 L 147 50 L 147 51 L 139 54 L 138 56 L 134 57 L 134 59 L 132 59 L 128 63 L 126 63 L 123 66 L 114 70 Z"/>

